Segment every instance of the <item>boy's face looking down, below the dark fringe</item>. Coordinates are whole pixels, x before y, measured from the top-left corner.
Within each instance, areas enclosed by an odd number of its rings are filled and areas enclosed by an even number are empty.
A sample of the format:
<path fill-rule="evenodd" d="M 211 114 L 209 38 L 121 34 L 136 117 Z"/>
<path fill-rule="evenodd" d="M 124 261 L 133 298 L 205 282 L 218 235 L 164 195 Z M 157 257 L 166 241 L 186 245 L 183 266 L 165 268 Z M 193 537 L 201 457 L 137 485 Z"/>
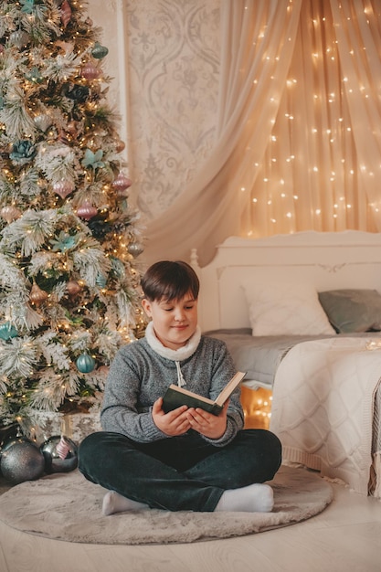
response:
<path fill-rule="evenodd" d="M 147 316 L 152 318 L 154 333 L 165 347 L 177 350 L 195 334 L 197 301 L 191 293 L 171 302 L 150 302 L 144 298 L 142 304 Z"/>

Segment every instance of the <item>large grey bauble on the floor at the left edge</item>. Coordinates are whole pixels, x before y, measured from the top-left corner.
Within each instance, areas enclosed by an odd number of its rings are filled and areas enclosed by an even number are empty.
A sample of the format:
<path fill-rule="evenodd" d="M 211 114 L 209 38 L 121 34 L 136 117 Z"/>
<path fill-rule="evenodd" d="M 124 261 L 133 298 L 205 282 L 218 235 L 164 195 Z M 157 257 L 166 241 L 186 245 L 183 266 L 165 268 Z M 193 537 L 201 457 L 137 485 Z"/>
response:
<path fill-rule="evenodd" d="M 12 484 L 36 481 L 45 471 L 44 455 L 32 441 L 20 440 L 3 447 L 0 470 Z"/>

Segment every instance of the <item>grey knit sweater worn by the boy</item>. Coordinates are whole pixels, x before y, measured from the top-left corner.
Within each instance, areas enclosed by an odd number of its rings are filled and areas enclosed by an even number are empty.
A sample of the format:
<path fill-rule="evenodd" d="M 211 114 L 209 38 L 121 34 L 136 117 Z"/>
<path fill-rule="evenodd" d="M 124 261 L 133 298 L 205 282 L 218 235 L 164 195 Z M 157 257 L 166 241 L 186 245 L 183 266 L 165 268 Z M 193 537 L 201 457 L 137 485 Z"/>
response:
<path fill-rule="evenodd" d="M 236 373 L 224 342 L 201 336 L 196 351 L 180 362 L 185 388 L 215 399 Z M 170 384 L 177 383 L 174 360 L 153 351 L 146 338 L 123 346 L 115 356 L 105 387 L 101 425 L 106 431 L 122 433 L 132 440 L 148 443 L 169 439 L 153 422 L 153 402 L 164 396 Z M 228 424 L 224 435 L 208 442 L 224 446 L 243 427 L 239 389 L 228 406 Z"/>

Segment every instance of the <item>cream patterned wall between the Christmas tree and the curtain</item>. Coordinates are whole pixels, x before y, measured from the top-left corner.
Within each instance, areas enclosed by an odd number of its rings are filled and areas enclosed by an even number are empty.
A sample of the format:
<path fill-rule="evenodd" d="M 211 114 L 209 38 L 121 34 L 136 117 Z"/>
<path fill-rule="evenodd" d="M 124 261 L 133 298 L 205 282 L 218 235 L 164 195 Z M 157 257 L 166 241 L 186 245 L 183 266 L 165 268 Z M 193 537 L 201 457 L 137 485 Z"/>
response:
<path fill-rule="evenodd" d="M 220 2 L 90 3 L 111 48 L 110 97 L 122 114 L 124 139 L 128 132 L 129 175 L 143 219 L 169 207 L 213 146 Z"/>

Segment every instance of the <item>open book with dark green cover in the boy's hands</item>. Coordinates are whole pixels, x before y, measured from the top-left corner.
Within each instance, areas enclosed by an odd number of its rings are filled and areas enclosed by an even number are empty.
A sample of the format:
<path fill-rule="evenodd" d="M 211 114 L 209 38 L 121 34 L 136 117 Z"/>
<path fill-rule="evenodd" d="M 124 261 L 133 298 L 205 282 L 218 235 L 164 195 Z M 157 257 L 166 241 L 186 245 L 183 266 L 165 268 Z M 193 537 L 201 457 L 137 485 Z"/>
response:
<path fill-rule="evenodd" d="M 246 372 L 243 373 L 238 371 L 238 373 L 233 376 L 228 384 L 223 388 L 215 401 L 208 397 L 199 396 L 193 391 L 188 391 L 188 389 L 185 389 L 184 387 L 178 387 L 172 384 L 168 387 L 163 397 L 164 412 L 168 413 L 168 411 L 172 411 L 172 409 L 179 408 L 182 405 L 187 405 L 188 408 L 201 408 L 208 413 L 218 415 L 224 407 L 225 402 L 231 396 L 236 387 L 239 386 L 245 376 Z"/>

